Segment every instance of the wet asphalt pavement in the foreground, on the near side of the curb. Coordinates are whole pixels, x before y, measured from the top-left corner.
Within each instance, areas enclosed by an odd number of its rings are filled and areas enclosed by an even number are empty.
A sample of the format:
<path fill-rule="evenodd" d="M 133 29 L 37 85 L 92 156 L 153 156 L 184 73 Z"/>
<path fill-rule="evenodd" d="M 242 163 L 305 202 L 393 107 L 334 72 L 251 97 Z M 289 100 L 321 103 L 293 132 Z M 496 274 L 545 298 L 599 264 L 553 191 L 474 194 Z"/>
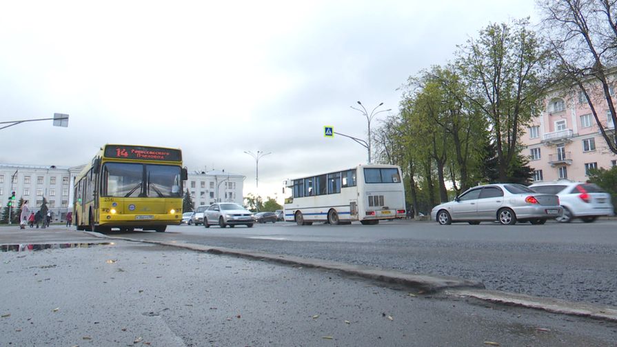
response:
<path fill-rule="evenodd" d="M 338 272 L 181 248 L 126 241 L 81 247 L 96 241 L 110 240 L 54 228 L 9 235 L 0 228 L 0 244 L 60 243 L 0 252 L 2 346 L 614 346 L 617 340 L 614 322 L 410 295 Z M 77 248 L 59 248 L 67 245 Z"/>

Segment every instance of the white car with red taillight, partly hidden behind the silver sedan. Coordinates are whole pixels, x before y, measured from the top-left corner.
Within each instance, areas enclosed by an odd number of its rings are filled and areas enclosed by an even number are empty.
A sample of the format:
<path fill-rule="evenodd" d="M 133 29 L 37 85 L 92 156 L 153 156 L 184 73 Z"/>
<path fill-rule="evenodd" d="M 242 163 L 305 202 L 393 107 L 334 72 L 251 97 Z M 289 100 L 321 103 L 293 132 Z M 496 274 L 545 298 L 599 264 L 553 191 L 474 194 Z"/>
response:
<path fill-rule="evenodd" d="M 555 181 L 532 184 L 529 186 L 536 192 L 555 194 L 563 206 L 563 215 L 557 220 L 569 223 L 580 218 L 585 223 L 595 221 L 599 216 L 614 215 L 611 195 L 602 188 L 591 183 Z"/>

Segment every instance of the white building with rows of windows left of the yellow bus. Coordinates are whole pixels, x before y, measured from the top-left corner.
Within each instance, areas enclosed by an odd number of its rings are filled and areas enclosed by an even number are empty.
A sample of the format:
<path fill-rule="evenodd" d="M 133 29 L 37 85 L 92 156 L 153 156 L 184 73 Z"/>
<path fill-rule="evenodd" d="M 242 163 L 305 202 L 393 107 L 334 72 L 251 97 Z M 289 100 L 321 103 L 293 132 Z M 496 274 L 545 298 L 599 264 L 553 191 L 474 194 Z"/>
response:
<path fill-rule="evenodd" d="M 73 184 L 82 168 L 0 163 L 0 206 L 6 207 L 15 192 L 16 205 L 19 199 L 28 200 L 30 210 L 37 212 L 45 197 L 53 221 L 63 221 L 72 210 Z"/>

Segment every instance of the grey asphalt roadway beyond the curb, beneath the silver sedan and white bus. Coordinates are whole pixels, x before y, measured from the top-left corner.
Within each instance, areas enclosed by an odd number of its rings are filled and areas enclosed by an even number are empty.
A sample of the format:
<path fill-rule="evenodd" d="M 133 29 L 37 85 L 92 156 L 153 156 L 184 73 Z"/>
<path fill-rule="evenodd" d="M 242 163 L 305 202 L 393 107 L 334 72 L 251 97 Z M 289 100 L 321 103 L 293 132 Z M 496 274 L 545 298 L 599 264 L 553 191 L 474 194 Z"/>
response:
<path fill-rule="evenodd" d="M 617 306 L 617 221 L 479 226 L 392 221 L 378 226 L 172 226 L 143 239 L 258 250 L 414 274 L 482 281 L 487 289 Z"/>

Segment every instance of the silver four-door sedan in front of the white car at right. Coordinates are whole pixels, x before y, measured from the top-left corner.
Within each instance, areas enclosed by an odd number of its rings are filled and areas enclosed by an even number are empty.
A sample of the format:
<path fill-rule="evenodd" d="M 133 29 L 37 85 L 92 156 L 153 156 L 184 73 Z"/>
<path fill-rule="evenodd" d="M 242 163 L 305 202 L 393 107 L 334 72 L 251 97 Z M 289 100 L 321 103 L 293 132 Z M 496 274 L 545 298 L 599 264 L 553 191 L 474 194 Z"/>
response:
<path fill-rule="evenodd" d="M 487 184 L 469 188 L 454 201 L 435 206 L 431 219 L 441 225 L 453 221 L 545 224 L 547 219 L 555 219 L 562 213 L 557 195 L 540 194 L 522 184 Z"/>

